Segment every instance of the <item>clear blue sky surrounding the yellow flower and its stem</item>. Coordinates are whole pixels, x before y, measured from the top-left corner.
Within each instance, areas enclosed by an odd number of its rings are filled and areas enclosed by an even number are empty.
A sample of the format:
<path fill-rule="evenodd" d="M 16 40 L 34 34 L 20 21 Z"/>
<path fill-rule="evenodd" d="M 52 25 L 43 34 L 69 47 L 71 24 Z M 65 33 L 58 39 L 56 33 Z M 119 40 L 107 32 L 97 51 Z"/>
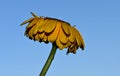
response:
<path fill-rule="evenodd" d="M 20 24 L 37 15 L 65 20 L 85 50 L 57 50 L 46 76 L 120 76 L 120 0 L 1 0 L 0 76 L 38 76 L 51 44 L 29 40 Z"/>

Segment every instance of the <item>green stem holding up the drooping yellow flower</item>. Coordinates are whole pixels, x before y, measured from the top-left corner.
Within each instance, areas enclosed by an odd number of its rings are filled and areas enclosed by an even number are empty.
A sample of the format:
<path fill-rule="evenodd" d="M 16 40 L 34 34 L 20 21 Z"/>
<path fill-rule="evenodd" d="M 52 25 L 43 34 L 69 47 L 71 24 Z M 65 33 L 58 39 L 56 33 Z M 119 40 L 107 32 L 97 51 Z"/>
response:
<path fill-rule="evenodd" d="M 45 74 L 47 73 L 47 71 L 48 71 L 48 69 L 49 69 L 49 67 L 50 67 L 50 65 L 51 65 L 51 63 L 54 59 L 56 50 L 57 50 L 57 45 L 53 43 L 52 50 L 51 50 L 51 52 L 49 54 L 49 57 L 48 57 L 48 59 L 47 59 L 47 61 L 46 61 L 46 63 L 45 63 L 45 65 L 44 65 L 44 67 L 43 67 L 39 76 L 45 76 Z"/>

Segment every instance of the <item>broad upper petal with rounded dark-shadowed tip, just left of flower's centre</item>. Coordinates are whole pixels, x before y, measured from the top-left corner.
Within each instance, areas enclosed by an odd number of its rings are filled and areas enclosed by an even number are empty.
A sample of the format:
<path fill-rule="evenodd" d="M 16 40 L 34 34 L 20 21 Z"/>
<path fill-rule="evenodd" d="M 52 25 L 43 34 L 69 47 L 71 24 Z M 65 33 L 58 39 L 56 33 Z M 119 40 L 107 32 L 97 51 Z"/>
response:
<path fill-rule="evenodd" d="M 57 20 L 50 20 L 49 24 L 47 25 L 45 32 L 51 33 L 56 27 Z"/>

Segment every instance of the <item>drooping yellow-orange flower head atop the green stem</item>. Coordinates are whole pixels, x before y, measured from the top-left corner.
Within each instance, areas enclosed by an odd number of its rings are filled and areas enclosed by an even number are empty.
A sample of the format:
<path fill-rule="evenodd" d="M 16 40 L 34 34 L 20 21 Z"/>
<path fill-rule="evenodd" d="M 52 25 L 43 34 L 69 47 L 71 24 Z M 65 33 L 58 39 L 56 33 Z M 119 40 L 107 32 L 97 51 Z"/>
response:
<path fill-rule="evenodd" d="M 67 53 L 76 53 L 80 47 L 84 49 L 84 41 L 79 31 L 68 22 L 49 18 L 39 17 L 32 13 L 33 17 L 24 21 L 21 25 L 28 23 L 25 35 L 32 40 L 39 42 L 55 43 L 62 50 L 68 48 Z"/>

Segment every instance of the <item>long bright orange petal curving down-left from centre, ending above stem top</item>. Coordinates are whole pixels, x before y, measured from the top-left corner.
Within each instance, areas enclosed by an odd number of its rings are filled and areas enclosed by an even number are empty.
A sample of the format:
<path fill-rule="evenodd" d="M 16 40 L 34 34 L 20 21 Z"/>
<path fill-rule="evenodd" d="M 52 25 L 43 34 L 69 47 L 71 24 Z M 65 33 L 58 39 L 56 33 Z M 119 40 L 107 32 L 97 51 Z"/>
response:
<path fill-rule="evenodd" d="M 48 41 L 54 42 L 57 39 L 60 27 L 60 22 L 57 22 L 55 30 L 48 36 Z"/>

